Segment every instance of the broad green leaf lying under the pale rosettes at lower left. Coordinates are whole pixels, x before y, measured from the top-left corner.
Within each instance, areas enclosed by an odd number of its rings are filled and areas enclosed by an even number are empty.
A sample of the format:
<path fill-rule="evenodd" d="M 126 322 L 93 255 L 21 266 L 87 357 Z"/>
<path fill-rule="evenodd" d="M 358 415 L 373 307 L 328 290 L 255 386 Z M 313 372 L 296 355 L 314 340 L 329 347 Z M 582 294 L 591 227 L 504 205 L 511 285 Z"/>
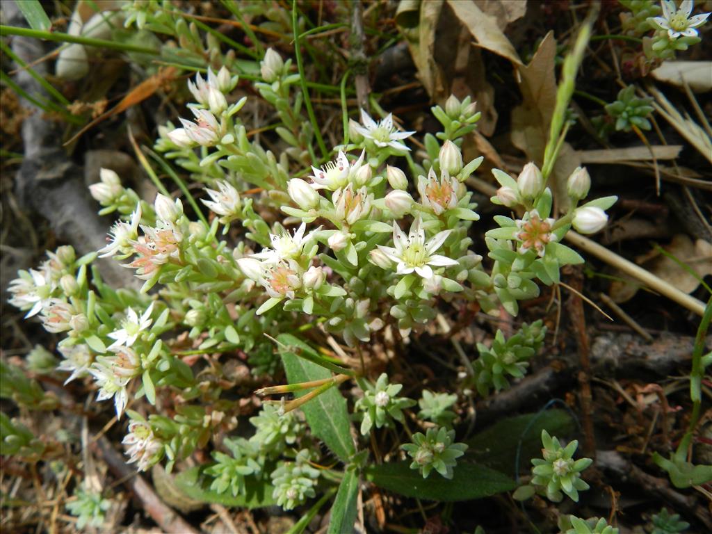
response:
<path fill-rule="evenodd" d="M 200 466 L 179 473 L 174 483 L 187 497 L 204 503 L 253 509 L 273 506 L 277 502 L 272 497 L 273 486 L 266 481 L 256 481 L 251 476 L 245 478 L 245 495 L 234 497 L 229 491 L 217 493 L 210 489 L 211 477 L 203 476 Z"/>

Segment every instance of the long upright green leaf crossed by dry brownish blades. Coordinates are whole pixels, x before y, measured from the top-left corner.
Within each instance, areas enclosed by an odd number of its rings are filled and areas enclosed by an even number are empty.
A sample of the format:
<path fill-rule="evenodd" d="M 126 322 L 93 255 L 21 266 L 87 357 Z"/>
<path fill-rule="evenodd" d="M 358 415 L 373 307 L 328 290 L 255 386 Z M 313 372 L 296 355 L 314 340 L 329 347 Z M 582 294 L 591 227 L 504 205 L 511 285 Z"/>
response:
<path fill-rule="evenodd" d="M 333 376 L 328 370 L 296 355 L 290 347 L 298 347 L 305 352 L 312 352 L 312 347 L 291 334 L 278 335 L 277 340 L 285 347 L 280 347 L 284 370 L 290 384 L 320 380 Z M 296 392 L 301 397 L 307 392 Z M 302 410 L 314 436 L 322 440 L 339 458 L 347 462 L 355 454 L 356 447 L 351 439 L 351 424 L 346 409 L 346 399 L 335 387 L 318 395 L 303 405 Z"/>

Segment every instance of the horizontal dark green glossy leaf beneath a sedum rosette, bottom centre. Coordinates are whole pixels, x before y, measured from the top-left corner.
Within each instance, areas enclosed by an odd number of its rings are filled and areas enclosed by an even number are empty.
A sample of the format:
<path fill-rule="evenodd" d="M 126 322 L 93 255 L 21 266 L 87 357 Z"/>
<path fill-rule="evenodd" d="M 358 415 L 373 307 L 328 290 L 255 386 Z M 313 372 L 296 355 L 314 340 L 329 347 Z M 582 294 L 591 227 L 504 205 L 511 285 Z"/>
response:
<path fill-rule="evenodd" d="M 409 461 L 368 466 L 366 479 L 379 488 L 428 501 L 471 501 L 517 487 L 515 481 L 491 468 L 460 462 L 450 480 L 433 471 L 428 478 L 410 468 Z"/>

